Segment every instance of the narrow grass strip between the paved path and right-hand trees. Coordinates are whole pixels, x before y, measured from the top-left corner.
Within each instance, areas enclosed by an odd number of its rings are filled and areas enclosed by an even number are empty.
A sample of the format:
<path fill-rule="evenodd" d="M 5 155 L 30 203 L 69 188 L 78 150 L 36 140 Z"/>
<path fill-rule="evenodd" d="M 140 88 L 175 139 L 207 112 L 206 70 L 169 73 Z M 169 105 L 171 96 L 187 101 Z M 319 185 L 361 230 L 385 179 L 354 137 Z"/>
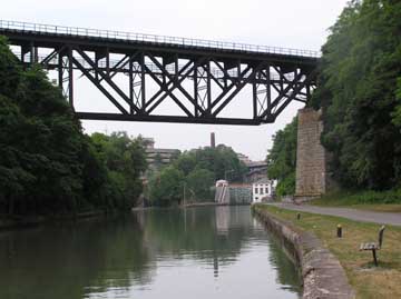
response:
<path fill-rule="evenodd" d="M 401 212 L 401 190 L 338 191 L 311 201 L 321 207 L 348 207 L 380 212 Z"/>

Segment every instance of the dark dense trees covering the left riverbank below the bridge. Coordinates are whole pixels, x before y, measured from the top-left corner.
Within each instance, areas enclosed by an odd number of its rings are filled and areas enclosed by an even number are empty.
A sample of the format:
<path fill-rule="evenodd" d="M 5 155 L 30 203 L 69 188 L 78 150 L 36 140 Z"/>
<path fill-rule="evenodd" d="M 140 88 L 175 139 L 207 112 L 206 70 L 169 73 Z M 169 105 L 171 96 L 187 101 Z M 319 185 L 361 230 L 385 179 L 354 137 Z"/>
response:
<path fill-rule="evenodd" d="M 138 143 L 92 142 L 59 88 L 39 67 L 23 70 L 1 37 L 0 127 L 0 213 L 126 208 L 140 193 Z"/>

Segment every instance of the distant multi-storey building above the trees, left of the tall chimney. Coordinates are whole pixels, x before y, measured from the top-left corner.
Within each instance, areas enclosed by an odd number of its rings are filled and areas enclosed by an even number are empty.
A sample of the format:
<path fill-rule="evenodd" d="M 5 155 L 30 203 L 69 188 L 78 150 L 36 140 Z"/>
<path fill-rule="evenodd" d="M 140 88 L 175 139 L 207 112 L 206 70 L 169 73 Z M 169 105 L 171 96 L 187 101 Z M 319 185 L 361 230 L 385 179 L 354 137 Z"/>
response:
<path fill-rule="evenodd" d="M 178 149 L 155 148 L 155 139 L 153 138 L 143 138 L 143 140 L 146 146 L 146 161 L 153 169 L 169 165 L 172 159 L 180 152 Z"/>

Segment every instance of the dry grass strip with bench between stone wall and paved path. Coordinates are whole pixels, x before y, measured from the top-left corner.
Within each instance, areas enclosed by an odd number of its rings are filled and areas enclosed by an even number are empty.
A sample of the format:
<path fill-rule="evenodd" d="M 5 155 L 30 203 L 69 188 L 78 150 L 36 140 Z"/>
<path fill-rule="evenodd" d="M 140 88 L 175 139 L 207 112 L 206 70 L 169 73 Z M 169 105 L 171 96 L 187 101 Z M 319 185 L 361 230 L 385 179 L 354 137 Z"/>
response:
<path fill-rule="evenodd" d="M 314 232 L 344 267 L 356 298 L 401 298 L 401 228 L 387 226 L 383 249 L 378 251 L 379 267 L 374 267 L 371 251 L 359 251 L 359 246 L 378 240 L 379 225 L 304 212 L 296 220 L 296 211 L 264 205 L 256 208 Z M 342 239 L 336 238 L 339 223 Z"/>

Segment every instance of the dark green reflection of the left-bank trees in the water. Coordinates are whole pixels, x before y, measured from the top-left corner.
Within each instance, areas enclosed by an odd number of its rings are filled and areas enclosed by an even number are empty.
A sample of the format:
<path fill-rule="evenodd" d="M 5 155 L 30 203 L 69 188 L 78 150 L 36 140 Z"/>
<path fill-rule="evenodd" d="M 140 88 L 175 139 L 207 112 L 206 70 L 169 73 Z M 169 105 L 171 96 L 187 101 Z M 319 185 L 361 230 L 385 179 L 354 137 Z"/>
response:
<path fill-rule="evenodd" d="M 75 299 L 82 298 L 88 286 L 102 291 L 128 287 L 131 279 L 148 282 L 148 251 L 134 221 L 90 220 L 4 233 L 0 298 Z"/>

